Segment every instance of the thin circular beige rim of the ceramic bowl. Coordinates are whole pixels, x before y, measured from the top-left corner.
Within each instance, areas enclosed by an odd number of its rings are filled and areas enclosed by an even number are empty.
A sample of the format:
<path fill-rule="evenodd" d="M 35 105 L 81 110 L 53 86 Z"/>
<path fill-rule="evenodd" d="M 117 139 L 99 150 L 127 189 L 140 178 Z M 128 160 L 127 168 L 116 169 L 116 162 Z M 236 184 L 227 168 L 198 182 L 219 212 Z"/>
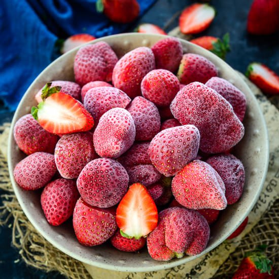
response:
<path fill-rule="evenodd" d="M 147 33 L 120 33 L 120 34 L 115 34 L 115 35 L 112 35 L 112 36 L 107 36 L 107 37 L 102 37 L 102 38 L 99 38 L 99 39 L 95 39 L 89 43 L 86 43 L 85 45 L 88 45 L 88 44 L 95 44 L 95 43 L 98 43 L 100 41 L 104 41 L 106 39 L 114 39 L 114 38 L 122 38 L 123 40 L 126 38 L 130 38 L 130 37 L 141 37 L 143 39 L 146 39 L 148 40 L 149 38 L 154 38 L 156 37 L 157 41 L 161 40 L 161 39 L 165 39 L 165 38 L 168 38 L 168 37 L 171 37 L 173 38 L 172 36 L 166 36 L 166 35 L 162 35 L 162 34 L 147 34 Z M 175 37 L 176 38 L 176 37 Z M 262 188 L 263 188 L 263 184 L 264 184 L 264 181 L 265 181 L 265 178 L 266 178 L 266 174 L 267 174 L 267 170 L 268 170 L 268 162 L 269 162 L 269 142 L 268 142 L 268 132 L 267 132 L 267 126 L 266 126 L 266 123 L 265 123 L 265 119 L 263 117 L 263 113 L 260 109 L 260 106 L 259 106 L 259 103 L 256 99 L 256 97 L 254 96 L 254 94 L 252 93 L 251 89 L 248 87 L 248 85 L 245 83 L 244 80 L 241 79 L 240 75 L 230 66 L 228 65 L 225 61 L 223 61 L 221 58 L 217 57 L 215 54 L 203 49 L 202 47 L 199 47 L 197 45 L 194 45 L 186 40 L 183 40 L 183 39 L 180 39 L 180 38 L 177 38 L 178 40 L 180 40 L 181 42 L 183 42 L 184 44 L 186 45 L 190 45 L 194 48 L 197 48 L 199 50 L 199 52 L 202 52 L 202 53 L 205 53 L 205 56 L 210 59 L 210 60 L 216 60 L 218 61 L 218 63 L 220 64 L 223 64 L 224 67 L 226 68 L 229 68 L 233 71 L 230 71 L 233 76 L 233 78 L 235 78 L 236 80 L 238 80 L 239 82 L 242 83 L 242 86 L 246 88 L 247 91 L 250 91 L 251 93 L 251 96 L 252 98 L 254 98 L 254 100 L 256 100 L 256 106 L 257 106 L 257 110 L 259 111 L 259 115 L 257 117 L 260 118 L 260 120 L 262 121 L 263 123 L 263 132 L 264 132 L 264 137 L 266 138 L 266 141 L 264 142 L 265 145 L 264 145 L 264 152 L 265 152 L 265 161 L 262 162 L 263 163 L 263 175 L 262 175 L 262 178 L 261 178 L 261 181 L 260 181 L 260 186 L 258 188 L 258 192 L 257 194 L 254 196 L 254 199 L 253 199 L 253 202 L 251 202 L 251 204 L 247 207 L 247 210 L 246 210 L 246 214 L 244 214 L 241 218 L 241 220 L 239 220 L 238 222 L 238 225 L 240 225 L 242 223 L 242 221 L 249 215 L 249 213 L 251 212 L 253 206 L 255 205 L 255 203 L 257 202 L 258 198 L 259 198 L 259 195 L 262 191 Z M 83 45 L 84 46 L 84 45 Z M 125 266 L 121 266 L 121 265 L 111 265 L 109 263 L 106 263 L 106 262 L 100 262 L 100 261 L 97 261 L 95 260 L 94 264 L 92 262 L 92 260 L 86 260 L 86 259 L 83 259 L 83 257 L 76 253 L 75 255 L 73 255 L 71 252 L 68 251 L 67 248 L 65 248 L 64 246 L 60 245 L 59 243 L 59 240 L 57 239 L 53 239 L 52 237 L 49 237 L 48 234 L 42 230 L 40 228 L 40 226 L 37 224 L 36 220 L 33 220 L 32 216 L 29 214 L 24 202 L 23 202 L 23 199 L 21 198 L 21 195 L 19 193 L 19 190 L 18 190 L 18 186 L 17 186 L 17 183 L 15 182 L 14 180 L 14 177 L 13 177 L 13 169 L 12 169 L 12 157 L 11 157 L 11 154 L 13 152 L 13 149 L 12 149 L 12 143 L 13 143 L 13 128 L 14 128 L 14 125 L 15 125 L 15 122 L 18 120 L 19 118 L 19 108 L 22 106 L 23 102 L 24 102 L 24 98 L 25 96 L 27 96 L 27 94 L 29 93 L 29 89 L 37 83 L 37 80 L 40 78 L 40 77 L 43 77 L 45 75 L 45 73 L 48 71 L 49 68 L 51 68 L 53 66 L 54 63 L 57 63 L 57 61 L 61 60 L 61 59 L 64 59 L 65 56 L 67 55 L 72 55 L 74 52 L 76 52 L 78 49 L 80 48 L 79 47 L 76 47 L 75 49 L 69 51 L 69 52 L 66 52 L 65 54 L 61 55 L 60 57 L 58 57 L 57 59 L 55 59 L 53 62 L 51 62 L 37 77 L 36 79 L 34 79 L 34 81 L 30 84 L 30 86 L 27 88 L 26 92 L 24 93 L 24 95 L 22 96 L 19 104 L 18 104 L 18 107 L 15 111 L 15 114 L 14 114 L 14 117 L 13 117 L 13 120 L 12 120 L 12 123 L 11 123 L 11 129 L 10 129 L 10 133 L 9 133 L 9 138 L 8 138 L 8 167 L 9 167 L 9 173 L 10 173 L 10 178 L 11 178 L 11 183 L 12 183 L 12 186 L 13 186 L 13 190 L 15 192 L 15 195 L 19 201 L 19 204 L 24 212 L 24 214 L 26 215 L 26 217 L 28 218 L 28 220 L 30 221 L 30 223 L 34 226 L 34 228 L 36 228 L 38 230 L 38 232 L 47 240 L 49 241 L 54 247 L 56 247 L 57 249 L 59 249 L 60 251 L 62 251 L 63 253 L 65 253 L 66 255 L 68 256 L 71 256 L 83 263 L 86 263 L 86 264 L 89 264 L 91 266 L 97 266 L 97 267 L 100 267 L 100 268 L 104 268 L 104 269 L 109 269 L 109 270 L 116 270 L 116 271 L 129 271 L 129 272 L 142 272 L 142 271 L 157 271 L 157 270 L 162 270 L 162 269 L 166 269 L 166 268 L 171 268 L 171 267 L 175 267 L 175 266 L 178 266 L 178 265 L 181 265 L 181 264 L 184 264 L 184 263 L 187 263 L 187 262 L 190 262 L 196 258 L 199 258 L 203 255 L 205 255 L 206 253 L 212 251 L 213 249 L 215 249 L 216 247 L 218 247 L 230 234 L 231 232 L 233 231 L 229 231 L 228 233 L 224 234 L 223 237 L 221 237 L 220 239 L 218 239 L 218 241 L 216 241 L 216 243 L 214 243 L 214 245 L 212 245 L 211 247 L 206 247 L 205 250 L 203 250 L 200 254 L 196 255 L 196 256 L 184 256 L 183 258 L 181 259 L 175 259 L 175 261 L 167 261 L 167 262 L 164 262 L 164 264 L 162 264 L 161 261 L 158 261 L 158 263 L 161 263 L 160 265 L 158 266 L 155 266 L 155 267 L 146 267 L 145 269 L 143 268 L 138 268 L 138 267 L 125 267 Z M 201 54 L 202 55 L 202 54 Z M 230 74 L 231 76 L 231 74 Z M 238 226 L 237 225 L 237 226 Z M 234 229 L 237 228 L 237 226 L 235 226 Z M 189 257 L 191 258 L 190 260 L 187 260 L 189 259 Z"/>

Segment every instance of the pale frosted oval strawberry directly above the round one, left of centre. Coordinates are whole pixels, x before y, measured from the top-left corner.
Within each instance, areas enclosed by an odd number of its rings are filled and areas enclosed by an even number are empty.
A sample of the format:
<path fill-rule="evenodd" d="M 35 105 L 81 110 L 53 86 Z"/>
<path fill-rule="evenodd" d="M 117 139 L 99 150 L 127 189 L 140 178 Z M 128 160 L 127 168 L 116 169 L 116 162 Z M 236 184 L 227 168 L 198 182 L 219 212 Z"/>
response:
<path fill-rule="evenodd" d="M 118 158 L 133 145 L 134 138 L 135 125 L 131 114 L 115 108 L 101 116 L 93 142 L 100 157 Z"/>

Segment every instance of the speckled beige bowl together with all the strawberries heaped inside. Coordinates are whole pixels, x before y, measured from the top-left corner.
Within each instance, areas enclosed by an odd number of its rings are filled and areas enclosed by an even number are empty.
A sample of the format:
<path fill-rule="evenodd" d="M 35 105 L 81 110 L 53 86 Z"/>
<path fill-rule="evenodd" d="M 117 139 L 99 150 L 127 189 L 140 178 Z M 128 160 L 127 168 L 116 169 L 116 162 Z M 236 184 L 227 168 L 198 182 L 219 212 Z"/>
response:
<path fill-rule="evenodd" d="M 8 162 L 24 213 L 56 248 L 106 269 L 159 270 L 211 251 L 247 217 L 267 129 L 213 53 L 126 33 L 65 53 L 34 80 Z"/>

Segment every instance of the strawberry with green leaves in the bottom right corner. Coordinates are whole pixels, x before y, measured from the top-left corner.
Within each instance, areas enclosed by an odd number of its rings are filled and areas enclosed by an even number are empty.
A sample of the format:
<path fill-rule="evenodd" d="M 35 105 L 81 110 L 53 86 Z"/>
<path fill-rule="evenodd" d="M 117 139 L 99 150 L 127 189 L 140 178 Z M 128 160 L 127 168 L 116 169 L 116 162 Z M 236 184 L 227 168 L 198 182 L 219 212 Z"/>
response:
<path fill-rule="evenodd" d="M 272 262 L 264 254 L 266 246 L 257 247 L 254 251 L 247 252 L 242 259 L 232 279 L 272 279 L 275 278 Z"/>

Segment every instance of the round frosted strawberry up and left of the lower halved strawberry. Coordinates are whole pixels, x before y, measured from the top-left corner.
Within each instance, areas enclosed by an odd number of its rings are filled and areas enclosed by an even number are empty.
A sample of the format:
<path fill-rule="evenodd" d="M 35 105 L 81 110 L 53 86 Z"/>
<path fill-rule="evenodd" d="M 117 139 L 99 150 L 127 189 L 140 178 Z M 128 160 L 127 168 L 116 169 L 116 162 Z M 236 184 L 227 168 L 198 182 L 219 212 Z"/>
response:
<path fill-rule="evenodd" d="M 117 204 L 128 189 L 125 168 L 109 158 L 89 162 L 81 171 L 77 186 L 81 197 L 92 206 L 107 208 Z"/>

